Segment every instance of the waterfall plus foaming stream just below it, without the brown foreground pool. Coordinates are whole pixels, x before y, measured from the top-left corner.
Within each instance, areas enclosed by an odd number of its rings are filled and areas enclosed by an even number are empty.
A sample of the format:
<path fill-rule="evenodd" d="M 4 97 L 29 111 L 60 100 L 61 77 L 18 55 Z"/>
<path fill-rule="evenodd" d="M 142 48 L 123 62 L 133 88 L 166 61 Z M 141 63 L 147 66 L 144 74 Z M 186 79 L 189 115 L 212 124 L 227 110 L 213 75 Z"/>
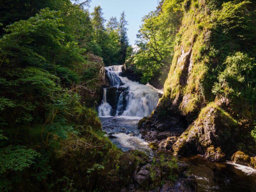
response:
<path fill-rule="evenodd" d="M 152 156 L 148 143 L 141 139 L 138 122 L 156 108 L 160 90 L 122 77 L 122 65 L 105 69 L 111 87 L 104 88 L 98 107 L 102 129 L 122 150 L 138 149 Z"/>

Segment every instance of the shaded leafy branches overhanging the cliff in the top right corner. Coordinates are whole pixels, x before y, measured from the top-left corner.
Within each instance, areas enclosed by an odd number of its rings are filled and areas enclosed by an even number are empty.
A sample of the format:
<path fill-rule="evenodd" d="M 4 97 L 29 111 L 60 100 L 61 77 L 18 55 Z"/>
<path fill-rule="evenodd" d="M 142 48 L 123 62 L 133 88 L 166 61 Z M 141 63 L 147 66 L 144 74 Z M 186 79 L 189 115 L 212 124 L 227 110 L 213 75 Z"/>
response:
<path fill-rule="evenodd" d="M 234 51 L 245 51 L 255 57 L 254 6 L 253 1 L 228 1 L 216 12 L 212 44 L 221 51 L 222 61 Z"/>

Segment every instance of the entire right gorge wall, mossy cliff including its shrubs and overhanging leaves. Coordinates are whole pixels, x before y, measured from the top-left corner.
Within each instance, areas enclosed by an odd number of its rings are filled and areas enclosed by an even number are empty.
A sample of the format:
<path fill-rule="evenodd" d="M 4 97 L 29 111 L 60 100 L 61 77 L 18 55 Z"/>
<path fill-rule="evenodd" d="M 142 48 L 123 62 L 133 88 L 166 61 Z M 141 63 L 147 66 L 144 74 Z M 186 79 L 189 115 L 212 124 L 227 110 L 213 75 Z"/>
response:
<path fill-rule="evenodd" d="M 242 150 L 254 157 L 256 41 L 250 33 L 256 28 L 249 26 L 256 4 L 187 0 L 181 5 L 164 94 L 151 116 L 140 121 L 140 131 L 177 155 L 223 161 Z"/>

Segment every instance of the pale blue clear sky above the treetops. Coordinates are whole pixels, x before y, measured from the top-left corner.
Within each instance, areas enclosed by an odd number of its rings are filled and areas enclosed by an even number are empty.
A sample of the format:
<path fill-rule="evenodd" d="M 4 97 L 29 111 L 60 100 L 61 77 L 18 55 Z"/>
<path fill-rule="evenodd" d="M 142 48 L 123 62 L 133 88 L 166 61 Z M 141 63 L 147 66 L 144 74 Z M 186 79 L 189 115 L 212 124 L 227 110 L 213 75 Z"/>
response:
<path fill-rule="evenodd" d="M 104 17 L 108 20 L 110 17 L 116 17 L 118 20 L 120 14 L 125 11 L 126 20 L 128 21 L 128 38 L 130 44 L 134 45 L 136 34 L 142 24 L 142 17 L 153 11 L 157 7 L 157 0 L 92 0 L 90 3 L 90 13 L 95 6 L 100 5 Z"/>

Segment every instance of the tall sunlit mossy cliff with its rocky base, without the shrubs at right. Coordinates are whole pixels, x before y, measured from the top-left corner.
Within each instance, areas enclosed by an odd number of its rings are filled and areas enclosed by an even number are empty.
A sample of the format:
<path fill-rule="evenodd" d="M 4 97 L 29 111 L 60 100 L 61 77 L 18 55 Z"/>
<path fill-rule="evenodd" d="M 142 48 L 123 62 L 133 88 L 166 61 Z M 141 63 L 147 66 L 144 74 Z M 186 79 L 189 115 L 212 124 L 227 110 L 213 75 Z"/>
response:
<path fill-rule="evenodd" d="M 224 65 L 229 56 L 217 50 L 214 37 L 220 31 L 213 26 L 219 23 L 211 19 L 215 13 L 209 9 L 209 2 L 189 4 L 185 11 L 163 97 L 154 114 L 139 122 L 140 132 L 146 141 L 158 143 L 159 149 L 172 150 L 177 155 L 201 154 L 212 161 L 225 161 L 242 146 L 244 151 L 251 152 L 250 162 L 255 162 L 255 142 L 250 135 L 254 107 L 236 100 L 240 91 L 230 96 L 234 87 L 227 85 L 231 84 L 225 80 L 229 77 L 221 79 L 219 75 L 227 67 Z M 218 9 L 222 9 L 221 4 Z M 208 24 L 202 27 L 196 20 Z M 227 42 L 223 44 L 227 45 L 228 54 L 235 51 L 229 50 Z M 246 52 L 243 48 L 240 51 Z M 226 88 L 218 90 L 224 84 Z M 243 163 L 239 156 L 234 159 Z M 244 164 L 254 166 L 249 158 Z"/>

